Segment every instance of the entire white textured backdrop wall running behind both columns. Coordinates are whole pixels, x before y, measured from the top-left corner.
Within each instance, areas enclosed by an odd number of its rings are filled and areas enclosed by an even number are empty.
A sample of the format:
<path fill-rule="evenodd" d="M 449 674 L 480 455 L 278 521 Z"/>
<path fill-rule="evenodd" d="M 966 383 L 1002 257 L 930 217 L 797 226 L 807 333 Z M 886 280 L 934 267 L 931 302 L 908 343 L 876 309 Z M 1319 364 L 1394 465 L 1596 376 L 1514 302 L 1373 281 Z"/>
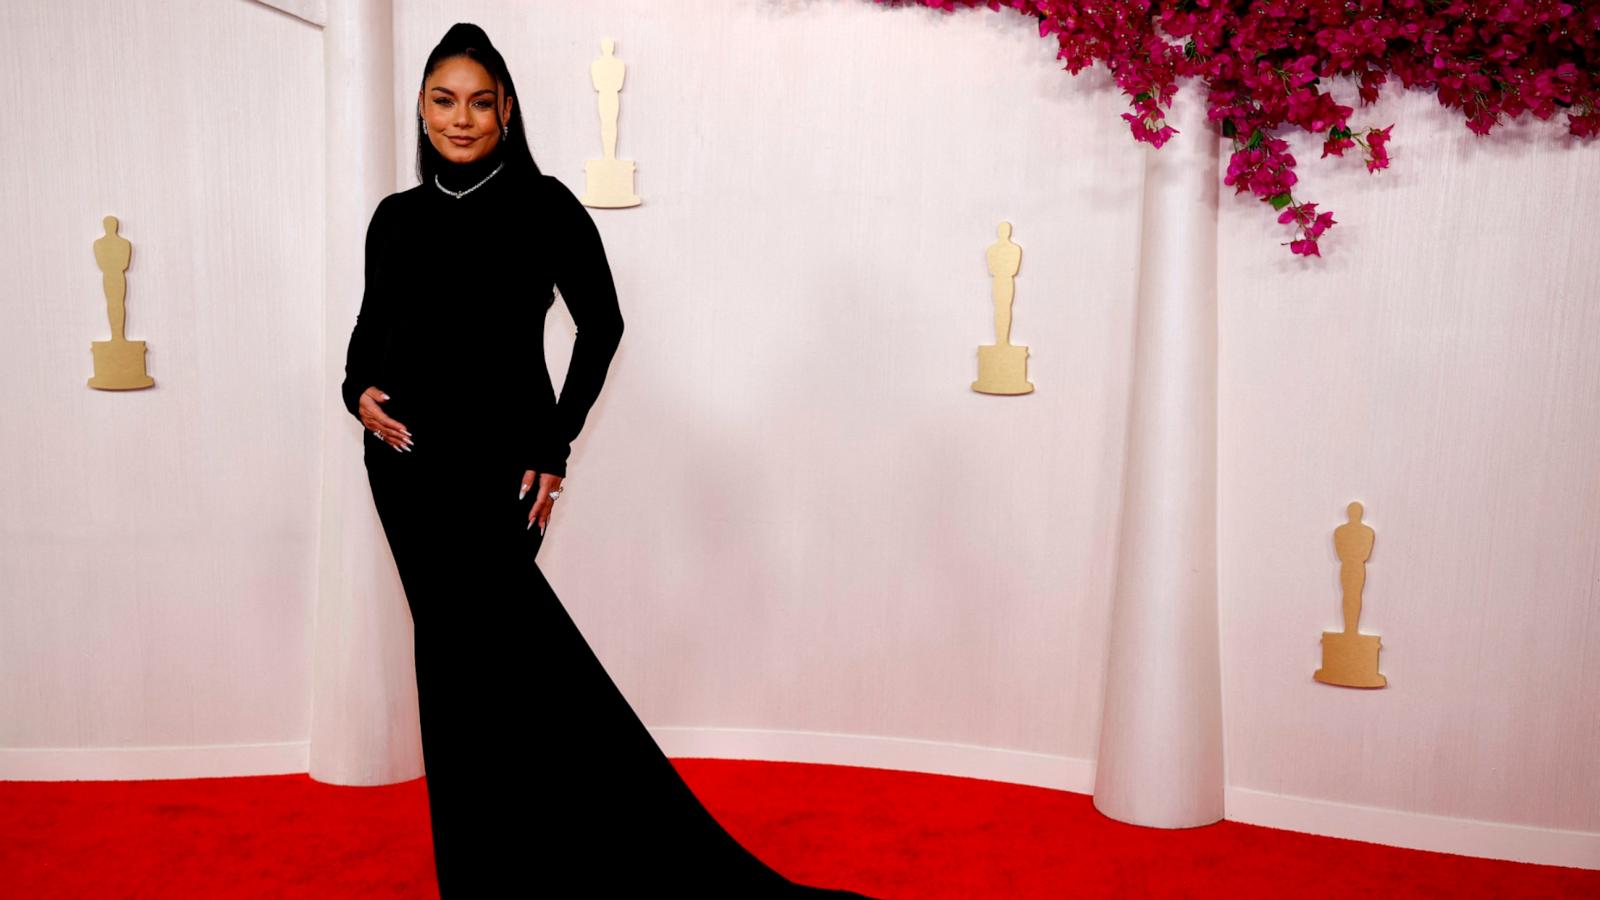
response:
<path fill-rule="evenodd" d="M 147 773 L 123 761 L 150 748 L 294 770 L 339 380 L 317 362 L 322 35 L 243 2 L 106 10 L 0 11 L 11 83 L 66 78 L 93 110 L 50 152 L 0 151 L 0 775 Z M 1152 152 L 1106 72 L 1069 77 L 1014 13 L 400 2 L 397 189 L 454 21 L 501 46 L 536 159 L 579 191 L 600 38 L 629 66 L 618 154 L 645 205 L 594 211 L 627 335 L 541 564 L 667 749 L 1088 790 Z M 46 54 L 58 34 L 75 51 Z M 1427 94 L 1357 122 L 1395 122 L 1389 171 L 1296 144 L 1339 219 L 1323 259 L 1219 202 L 1229 817 L 1394 842 L 1531 826 L 1600 865 L 1600 154 L 1555 123 L 1477 141 Z M 134 242 L 142 394 L 83 386 L 106 213 Z M 968 389 L 1000 219 L 1027 397 Z M 1381 692 L 1310 681 L 1350 500 L 1378 532 Z"/>

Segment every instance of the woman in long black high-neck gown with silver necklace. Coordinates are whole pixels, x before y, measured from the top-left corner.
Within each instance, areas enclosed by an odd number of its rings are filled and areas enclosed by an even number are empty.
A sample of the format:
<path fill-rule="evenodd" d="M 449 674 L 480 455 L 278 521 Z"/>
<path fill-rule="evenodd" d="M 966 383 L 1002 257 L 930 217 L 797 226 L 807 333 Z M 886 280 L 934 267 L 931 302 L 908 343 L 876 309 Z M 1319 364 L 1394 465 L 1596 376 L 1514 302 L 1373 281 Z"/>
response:
<path fill-rule="evenodd" d="M 429 54 L 421 184 L 373 213 L 342 384 L 411 609 L 440 894 L 861 897 L 790 882 L 717 823 L 534 564 L 622 315 L 515 96 L 477 26 Z M 578 327 L 560 402 L 554 288 Z"/>

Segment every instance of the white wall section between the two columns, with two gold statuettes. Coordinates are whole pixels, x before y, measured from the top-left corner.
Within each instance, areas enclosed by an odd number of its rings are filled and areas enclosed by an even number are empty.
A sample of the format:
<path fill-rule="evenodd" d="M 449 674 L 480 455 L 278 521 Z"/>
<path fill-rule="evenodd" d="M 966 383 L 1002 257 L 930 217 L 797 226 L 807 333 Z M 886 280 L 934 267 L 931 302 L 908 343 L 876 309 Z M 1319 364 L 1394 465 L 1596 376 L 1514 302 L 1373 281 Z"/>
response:
<path fill-rule="evenodd" d="M 539 559 L 650 724 L 1091 756 L 1141 157 L 1026 21 L 861 6 L 403 5 L 397 115 L 477 21 L 581 192 L 629 66 L 627 335 Z M 1029 397 L 970 389 L 1002 219 Z"/>

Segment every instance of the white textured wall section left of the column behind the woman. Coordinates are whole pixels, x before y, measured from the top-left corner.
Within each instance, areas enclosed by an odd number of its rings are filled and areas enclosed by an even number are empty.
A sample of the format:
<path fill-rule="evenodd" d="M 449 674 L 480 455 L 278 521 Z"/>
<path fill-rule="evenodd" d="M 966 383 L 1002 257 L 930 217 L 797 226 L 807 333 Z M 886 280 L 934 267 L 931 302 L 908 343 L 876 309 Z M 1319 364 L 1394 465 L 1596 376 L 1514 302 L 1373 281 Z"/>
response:
<path fill-rule="evenodd" d="M 293 770 L 325 402 L 322 32 L 256 3 L 70 0 L 0 5 L 0 45 L 8 770 L 50 769 L 26 748 L 206 745 Z M 109 336 L 106 215 L 133 242 L 146 391 L 85 386 Z"/>

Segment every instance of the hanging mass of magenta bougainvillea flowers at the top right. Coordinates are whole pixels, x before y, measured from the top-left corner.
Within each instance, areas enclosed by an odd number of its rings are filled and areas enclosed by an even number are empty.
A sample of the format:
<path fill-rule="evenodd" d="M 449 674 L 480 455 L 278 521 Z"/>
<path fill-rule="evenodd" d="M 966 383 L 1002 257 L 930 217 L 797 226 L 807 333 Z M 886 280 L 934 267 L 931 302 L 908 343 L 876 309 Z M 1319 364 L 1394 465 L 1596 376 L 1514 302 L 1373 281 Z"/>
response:
<path fill-rule="evenodd" d="M 1224 184 L 1250 191 L 1294 227 L 1290 250 L 1322 256 L 1317 239 L 1334 224 L 1294 200 L 1294 157 L 1277 135 L 1323 135 L 1323 159 L 1360 147 L 1366 171 L 1389 168 L 1389 133 L 1352 128 L 1349 106 L 1326 82 L 1354 80 L 1363 106 L 1394 75 L 1434 90 L 1475 135 L 1523 112 L 1566 114 L 1576 138 L 1600 133 L 1600 0 L 875 0 L 1011 8 L 1054 35 L 1056 58 L 1077 75 L 1104 62 L 1133 98 L 1122 114 L 1136 141 L 1160 147 L 1179 77 L 1206 88 L 1206 119 L 1234 149 Z"/>

